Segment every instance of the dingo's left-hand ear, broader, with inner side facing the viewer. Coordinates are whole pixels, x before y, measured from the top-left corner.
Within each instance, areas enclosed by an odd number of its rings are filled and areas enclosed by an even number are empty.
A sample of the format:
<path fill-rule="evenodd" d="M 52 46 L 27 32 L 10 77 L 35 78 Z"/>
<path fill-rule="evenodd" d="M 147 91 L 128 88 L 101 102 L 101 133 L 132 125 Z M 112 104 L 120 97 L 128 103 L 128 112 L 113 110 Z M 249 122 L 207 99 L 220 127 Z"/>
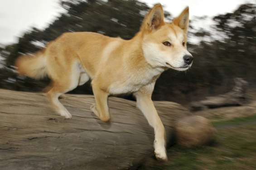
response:
<path fill-rule="evenodd" d="M 141 31 L 151 32 L 164 25 L 164 10 L 161 4 L 156 4 L 145 16 L 140 27 Z"/>

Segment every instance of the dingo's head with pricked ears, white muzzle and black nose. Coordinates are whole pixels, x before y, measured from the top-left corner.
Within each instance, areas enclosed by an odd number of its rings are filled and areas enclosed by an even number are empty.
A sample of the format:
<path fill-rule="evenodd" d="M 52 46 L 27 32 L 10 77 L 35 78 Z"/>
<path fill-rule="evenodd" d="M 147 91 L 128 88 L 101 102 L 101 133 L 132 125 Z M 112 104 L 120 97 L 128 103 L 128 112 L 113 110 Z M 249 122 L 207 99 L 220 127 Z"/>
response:
<path fill-rule="evenodd" d="M 151 66 L 179 71 L 191 67 L 193 56 L 187 51 L 188 21 L 188 7 L 172 23 L 164 22 L 160 4 L 150 10 L 140 32 L 144 57 Z"/>

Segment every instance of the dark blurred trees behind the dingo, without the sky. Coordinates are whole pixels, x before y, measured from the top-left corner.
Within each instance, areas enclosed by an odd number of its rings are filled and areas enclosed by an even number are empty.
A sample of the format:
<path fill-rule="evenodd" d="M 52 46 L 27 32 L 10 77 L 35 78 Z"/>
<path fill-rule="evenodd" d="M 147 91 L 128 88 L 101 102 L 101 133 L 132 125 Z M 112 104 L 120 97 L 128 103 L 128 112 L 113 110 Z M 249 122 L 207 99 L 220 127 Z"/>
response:
<path fill-rule="evenodd" d="M 63 32 L 91 31 L 130 39 L 139 30 L 149 9 L 145 3 L 137 0 L 63 0 L 60 5 L 66 12 L 48 28 L 31 28 L 19 38 L 17 44 L 5 46 L 0 51 L 9 68 L 7 71 L 1 70 L 1 77 L 3 80 L 16 80 L 3 81 L 5 85 L 0 84 L 0 87 L 41 90 L 48 83 L 47 80 L 39 82 L 12 72 L 17 56 L 38 51 Z M 165 15 L 171 18 L 168 12 Z M 256 63 L 256 5 L 241 5 L 234 12 L 218 15 L 213 20 L 218 33 L 225 36 L 221 40 L 206 41 L 204 37 L 211 38 L 213 32 L 203 29 L 189 32 L 190 37 L 200 37 L 202 40 L 198 45 L 188 44 L 195 58 L 192 68 L 185 73 L 174 70 L 164 72 L 156 83 L 154 100 L 183 103 L 227 92 L 235 77 L 245 78 L 251 84 L 256 83 L 256 73 L 252 71 Z M 77 87 L 72 93 L 92 94 L 90 83 Z"/>

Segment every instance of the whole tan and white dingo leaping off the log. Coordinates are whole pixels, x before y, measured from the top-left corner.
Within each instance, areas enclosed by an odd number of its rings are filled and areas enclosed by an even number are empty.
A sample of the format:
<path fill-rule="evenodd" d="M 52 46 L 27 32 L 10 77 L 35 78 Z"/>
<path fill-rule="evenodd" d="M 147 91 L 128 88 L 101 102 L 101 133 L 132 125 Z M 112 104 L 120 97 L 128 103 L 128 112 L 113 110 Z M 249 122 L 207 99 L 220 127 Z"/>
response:
<path fill-rule="evenodd" d="M 58 97 L 90 78 L 96 101 L 91 109 L 102 121 L 110 119 L 109 94 L 133 93 L 138 108 L 155 130 L 155 155 L 166 160 L 164 125 L 151 95 L 165 69 L 184 71 L 192 64 L 193 57 L 186 47 L 188 20 L 186 8 L 172 23 L 165 23 L 162 6 L 157 4 L 131 40 L 94 32 L 64 33 L 35 56 L 19 57 L 16 66 L 20 74 L 51 78 L 47 96 L 67 119 L 72 116 Z"/>

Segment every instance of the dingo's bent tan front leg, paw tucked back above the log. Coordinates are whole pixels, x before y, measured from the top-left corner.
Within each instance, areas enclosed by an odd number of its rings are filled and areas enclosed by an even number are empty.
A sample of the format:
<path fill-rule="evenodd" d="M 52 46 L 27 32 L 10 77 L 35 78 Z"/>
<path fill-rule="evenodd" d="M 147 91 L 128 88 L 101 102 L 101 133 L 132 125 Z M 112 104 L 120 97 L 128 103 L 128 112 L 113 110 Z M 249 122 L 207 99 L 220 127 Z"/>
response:
<path fill-rule="evenodd" d="M 95 106 L 91 106 L 91 110 L 97 115 L 102 121 L 107 122 L 110 119 L 107 106 L 108 93 L 102 91 L 97 85 L 92 85 L 92 91 L 95 98 Z"/>

